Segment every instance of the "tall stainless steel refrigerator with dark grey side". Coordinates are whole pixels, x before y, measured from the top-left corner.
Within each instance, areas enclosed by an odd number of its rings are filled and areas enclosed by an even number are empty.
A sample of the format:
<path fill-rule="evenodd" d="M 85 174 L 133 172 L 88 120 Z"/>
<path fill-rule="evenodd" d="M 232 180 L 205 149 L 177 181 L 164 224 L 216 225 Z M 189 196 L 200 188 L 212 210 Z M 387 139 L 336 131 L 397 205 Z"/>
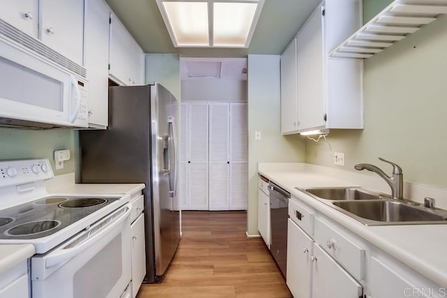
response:
<path fill-rule="evenodd" d="M 82 183 L 144 183 L 146 276 L 163 278 L 177 249 L 177 99 L 161 84 L 109 87 L 107 130 L 80 131 Z"/>

